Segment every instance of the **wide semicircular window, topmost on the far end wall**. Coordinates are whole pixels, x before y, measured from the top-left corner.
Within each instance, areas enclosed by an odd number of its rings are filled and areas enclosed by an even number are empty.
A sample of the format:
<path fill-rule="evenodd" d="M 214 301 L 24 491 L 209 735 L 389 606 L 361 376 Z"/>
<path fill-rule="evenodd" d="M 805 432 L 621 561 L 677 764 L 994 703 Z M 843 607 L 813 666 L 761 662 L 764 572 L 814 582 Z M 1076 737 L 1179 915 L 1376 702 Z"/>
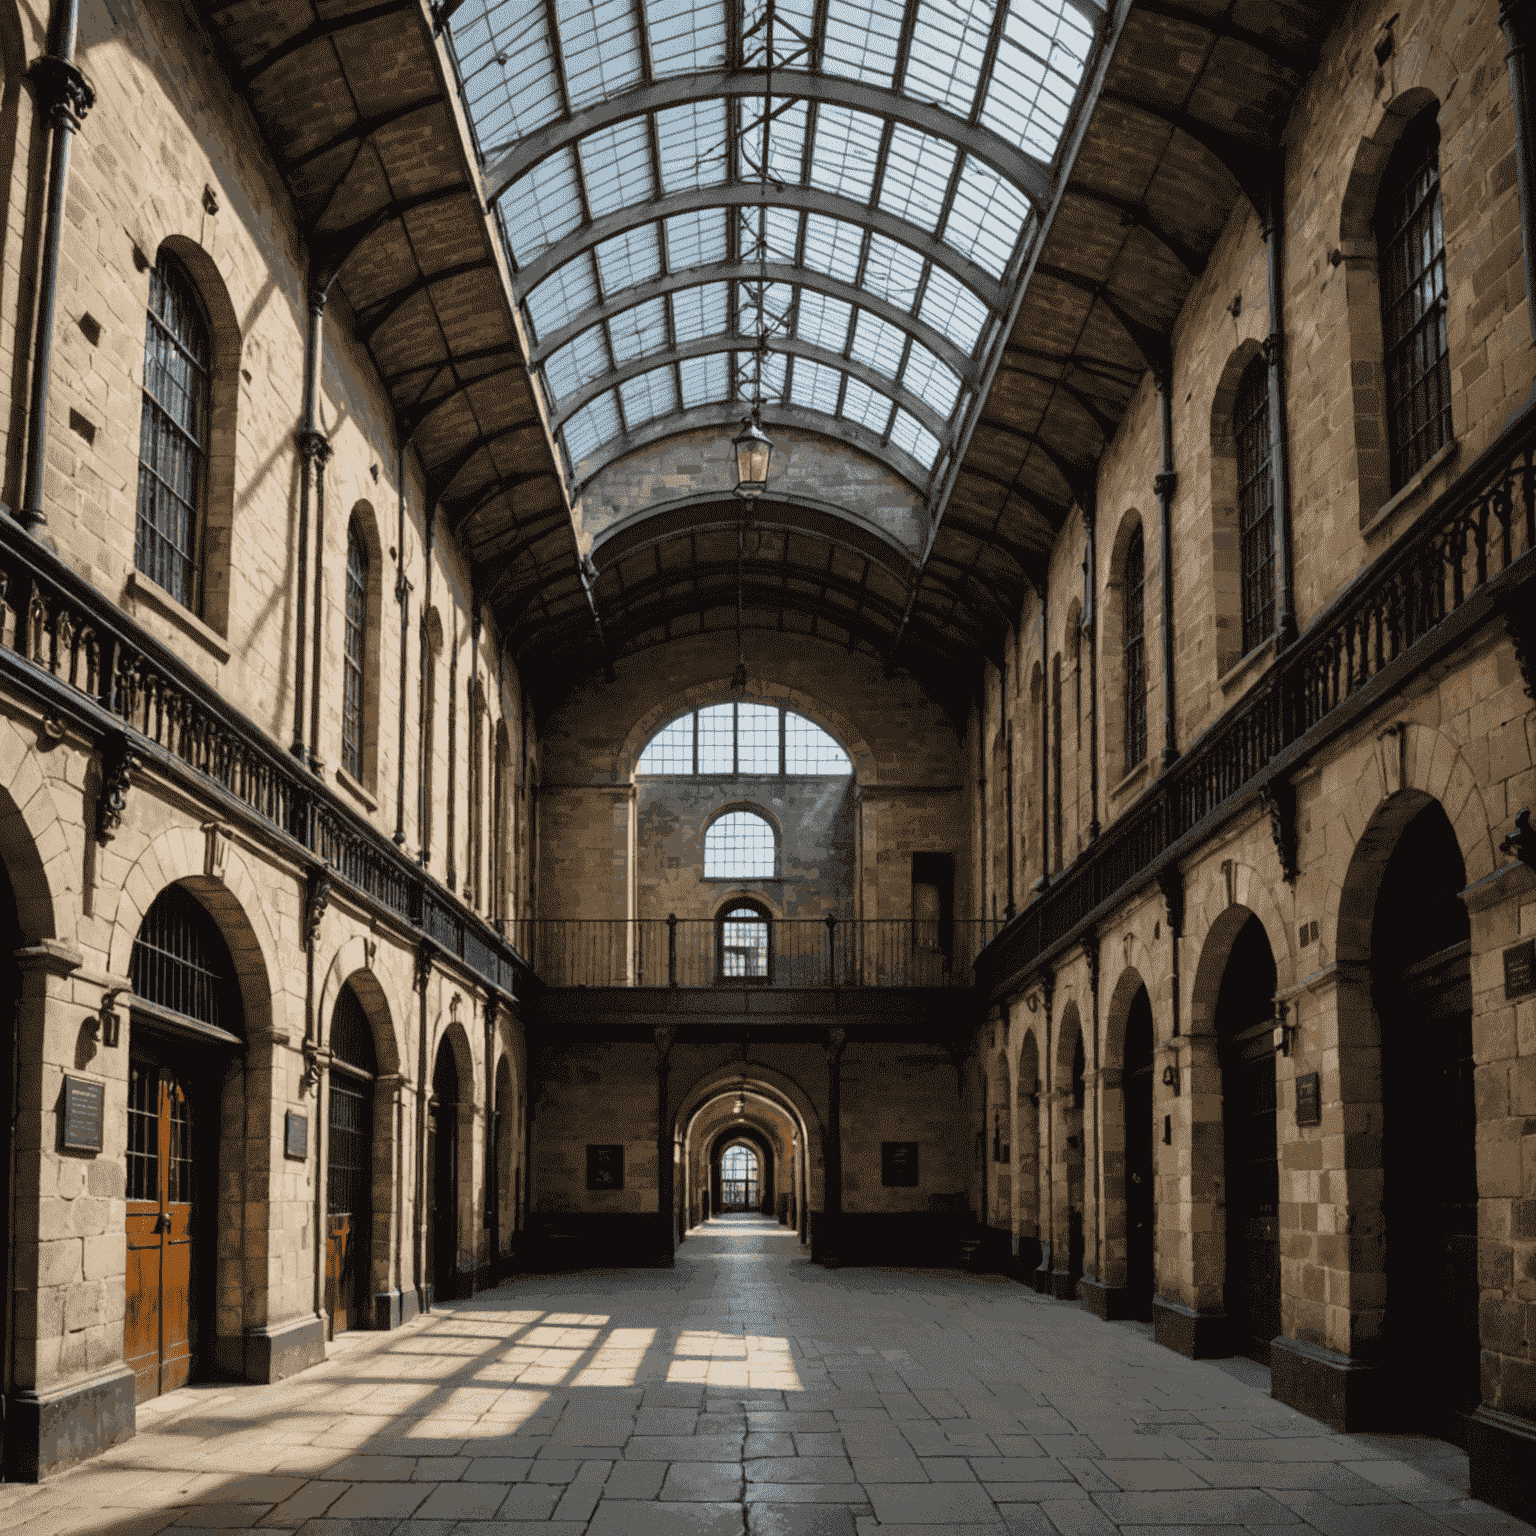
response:
<path fill-rule="evenodd" d="M 714 703 L 662 727 L 642 774 L 848 774 L 848 753 L 803 714 L 776 703 Z"/>

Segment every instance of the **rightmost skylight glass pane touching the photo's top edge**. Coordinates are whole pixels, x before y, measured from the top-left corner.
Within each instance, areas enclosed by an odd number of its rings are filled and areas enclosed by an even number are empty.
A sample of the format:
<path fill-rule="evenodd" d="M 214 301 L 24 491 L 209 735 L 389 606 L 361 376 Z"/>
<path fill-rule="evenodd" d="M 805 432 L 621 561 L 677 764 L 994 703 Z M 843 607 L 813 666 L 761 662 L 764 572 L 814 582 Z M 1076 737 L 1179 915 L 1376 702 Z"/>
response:
<path fill-rule="evenodd" d="M 1049 160 L 1091 46 L 1092 32 L 1069 5 L 1014 0 L 982 106 L 983 126 Z"/>

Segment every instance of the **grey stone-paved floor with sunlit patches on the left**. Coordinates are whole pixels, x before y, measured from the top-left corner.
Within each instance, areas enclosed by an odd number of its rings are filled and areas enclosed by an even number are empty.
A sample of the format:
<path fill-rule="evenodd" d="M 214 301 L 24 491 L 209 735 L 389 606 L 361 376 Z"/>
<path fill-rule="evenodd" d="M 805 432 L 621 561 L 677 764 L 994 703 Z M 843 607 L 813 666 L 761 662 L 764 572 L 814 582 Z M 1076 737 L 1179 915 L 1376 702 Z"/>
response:
<path fill-rule="evenodd" d="M 172 1536 L 1530 1531 L 1453 1447 L 1338 1436 L 997 1276 L 823 1270 L 754 1218 L 528 1276 L 275 1387 L 190 1387 L 0 1528 Z M 1275 1533 L 1278 1536 L 1278 1533 Z"/>

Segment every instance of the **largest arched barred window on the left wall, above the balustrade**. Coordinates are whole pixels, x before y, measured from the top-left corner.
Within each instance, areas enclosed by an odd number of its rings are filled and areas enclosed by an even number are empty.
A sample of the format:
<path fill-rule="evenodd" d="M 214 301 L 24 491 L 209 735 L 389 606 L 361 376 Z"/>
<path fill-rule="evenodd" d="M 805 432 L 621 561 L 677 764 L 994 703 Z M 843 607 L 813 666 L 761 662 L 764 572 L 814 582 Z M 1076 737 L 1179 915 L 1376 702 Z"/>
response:
<path fill-rule="evenodd" d="M 186 608 L 198 605 L 210 361 L 197 290 L 177 258 L 161 252 L 149 272 L 144 321 L 134 564 Z"/>

